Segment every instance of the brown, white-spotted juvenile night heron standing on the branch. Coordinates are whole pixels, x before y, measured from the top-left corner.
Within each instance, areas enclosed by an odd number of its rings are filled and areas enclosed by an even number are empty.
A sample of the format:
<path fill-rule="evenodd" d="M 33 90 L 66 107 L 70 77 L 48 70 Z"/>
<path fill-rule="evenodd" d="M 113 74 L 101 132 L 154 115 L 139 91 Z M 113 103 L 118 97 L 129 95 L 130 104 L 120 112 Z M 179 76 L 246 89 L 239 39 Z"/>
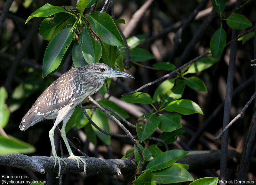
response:
<path fill-rule="evenodd" d="M 56 81 L 54 81 L 36 100 L 28 113 L 22 118 L 20 123 L 20 130 L 24 131 L 44 119 L 55 119 L 55 123 L 49 132 L 49 137 L 52 145 L 52 155 L 59 164 L 60 176 L 60 160 L 67 165 L 67 163 L 57 156 L 53 135 L 54 130 L 60 121 L 63 120 L 61 128 L 61 137 L 63 138 L 69 153 L 69 158 L 74 158 L 77 161 L 79 168 L 79 160 L 84 164 L 85 162 L 78 156 L 75 156 L 68 144 L 65 127 L 74 112 L 75 107 L 84 101 L 85 98 L 97 92 L 103 85 L 107 78 L 113 77 L 128 77 L 131 75 L 111 69 L 108 65 L 103 63 L 93 63 L 87 66 L 76 67 L 68 72 L 62 74 Z"/>

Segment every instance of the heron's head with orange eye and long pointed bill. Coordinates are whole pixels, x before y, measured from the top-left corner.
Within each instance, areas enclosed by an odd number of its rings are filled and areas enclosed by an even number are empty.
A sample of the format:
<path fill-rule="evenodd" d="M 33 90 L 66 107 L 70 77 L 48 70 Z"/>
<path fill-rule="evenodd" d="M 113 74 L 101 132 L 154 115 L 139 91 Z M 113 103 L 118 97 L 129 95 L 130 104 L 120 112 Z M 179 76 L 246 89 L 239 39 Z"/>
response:
<path fill-rule="evenodd" d="M 97 78 L 101 79 L 113 77 L 133 78 L 130 74 L 114 70 L 104 63 L 92 63 L 87 65 L 86 68 L 90 70 L 88 72 L 91 73 L 91 75 L 95 75 Z"/>

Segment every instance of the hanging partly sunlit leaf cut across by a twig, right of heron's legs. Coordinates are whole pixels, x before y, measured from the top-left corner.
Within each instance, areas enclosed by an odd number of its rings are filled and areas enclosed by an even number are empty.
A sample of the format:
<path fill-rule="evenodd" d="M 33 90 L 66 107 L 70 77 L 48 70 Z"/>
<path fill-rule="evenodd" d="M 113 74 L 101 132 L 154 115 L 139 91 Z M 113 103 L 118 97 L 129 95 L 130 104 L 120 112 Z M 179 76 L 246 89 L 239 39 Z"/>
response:
<path fill-rule="evenodd" d="M 100 110 L 96 109 L 92 114 L 92 121 L 100 128 L 109 132 L 108 118 L 100 113 Z M 92 127 L 95 134 L 100 138 L 101 141 L 110 145 L 110 135 L 103 134 L 97 128 Z"/>

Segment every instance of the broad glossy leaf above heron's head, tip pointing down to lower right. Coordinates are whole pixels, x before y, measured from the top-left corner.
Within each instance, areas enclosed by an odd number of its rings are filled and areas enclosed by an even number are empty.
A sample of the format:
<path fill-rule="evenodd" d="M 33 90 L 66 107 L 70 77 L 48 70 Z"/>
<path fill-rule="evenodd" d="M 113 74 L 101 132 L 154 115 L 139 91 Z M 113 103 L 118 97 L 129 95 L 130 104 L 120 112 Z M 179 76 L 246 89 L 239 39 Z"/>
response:
<path fill-rule="evenodd" d="M 110 15 L 102 12 L 99 16 L 99 11 L 96 11 L 88 15 L 87 20 L 94 32 L 102 37 L 104 43 L 124 47 L 124 41 Z"/>

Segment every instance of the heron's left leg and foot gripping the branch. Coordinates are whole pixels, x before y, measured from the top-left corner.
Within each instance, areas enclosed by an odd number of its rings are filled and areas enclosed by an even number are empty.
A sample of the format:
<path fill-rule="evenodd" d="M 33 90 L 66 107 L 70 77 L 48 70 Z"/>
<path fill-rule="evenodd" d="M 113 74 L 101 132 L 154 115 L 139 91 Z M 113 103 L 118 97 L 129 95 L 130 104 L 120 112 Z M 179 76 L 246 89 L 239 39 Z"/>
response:
<path fill-rule="evenodd" d="M 53 136 L 54 136 L 54 130 L 55 128 L 57 127 L 57 125 L 60 123 L 60 119 L 57 119 L 55 120 L 55 123 L 52 127 L 52 129 L 50 130 L 49 132 L 49 137 L 50 137 L 50 141 L 51 141 L 51 145 L 52 145 L 52 156 L 53 158 L 55 159 L 55 163 L 54 163 L 54 167 L 56 166 L 56 162 L 58 161 L 58 165 L 59 165 L 59 173 L 58 173 L 58 176 L 60 176 L 60 169 L 61 169 L 61 166 L 60 166 L 60 160 L 67 166 L 67 163 L 66 161 L 64 161 L 62 158 L 60 158 L 59 156 L 57 156 L 57 153 L 56 153 L 56 150 L 55 150 L 55 145 L 54 145 L 54 139 L 53 139 Z"/>

